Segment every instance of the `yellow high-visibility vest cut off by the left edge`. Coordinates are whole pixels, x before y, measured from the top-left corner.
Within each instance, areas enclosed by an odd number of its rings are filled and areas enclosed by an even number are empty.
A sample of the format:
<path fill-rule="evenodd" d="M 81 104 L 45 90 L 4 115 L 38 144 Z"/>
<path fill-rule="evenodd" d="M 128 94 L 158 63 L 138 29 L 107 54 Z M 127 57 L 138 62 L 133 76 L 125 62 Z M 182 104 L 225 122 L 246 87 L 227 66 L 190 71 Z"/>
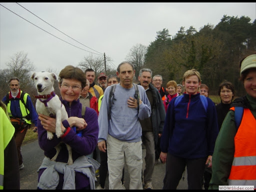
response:
<path fill-rule="evenodd" d="M 4 150 L 14 135 L 15 128 L 0 107 L 0 189 L 4 189 Z"/>

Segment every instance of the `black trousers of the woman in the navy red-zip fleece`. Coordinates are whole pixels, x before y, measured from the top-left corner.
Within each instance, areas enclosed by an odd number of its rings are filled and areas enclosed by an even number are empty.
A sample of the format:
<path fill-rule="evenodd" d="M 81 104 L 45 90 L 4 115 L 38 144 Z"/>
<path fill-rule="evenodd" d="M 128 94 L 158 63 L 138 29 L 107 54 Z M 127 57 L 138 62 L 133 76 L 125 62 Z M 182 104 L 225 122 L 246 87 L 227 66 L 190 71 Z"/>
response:
<path fill-rule="evenodd" d="M 206 160 L 207 157 L 186 159 L 168 153 L 163 189 L 176 189 L 186 166 L 188 171 L 188 189 L 202 189 L 202 178 L 204 176 Z"/>

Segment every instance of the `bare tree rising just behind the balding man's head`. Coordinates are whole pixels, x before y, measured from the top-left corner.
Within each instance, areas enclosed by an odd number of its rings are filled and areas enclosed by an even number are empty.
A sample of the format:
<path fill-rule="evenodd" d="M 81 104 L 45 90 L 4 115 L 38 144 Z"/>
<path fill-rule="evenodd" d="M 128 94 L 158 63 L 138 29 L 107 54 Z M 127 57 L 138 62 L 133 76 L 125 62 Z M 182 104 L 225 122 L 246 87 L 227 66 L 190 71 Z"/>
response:
<path fill-rule="evenodd" d="M 145 63 L 145 54 L 147 53 L 147 47 L 142 44 L 136 44 L 132 46 L 130 52 L 126 56 L 126 60 L 132 62 L 135 68 L 135 76 L 138 78 L 140 69 Z"/>

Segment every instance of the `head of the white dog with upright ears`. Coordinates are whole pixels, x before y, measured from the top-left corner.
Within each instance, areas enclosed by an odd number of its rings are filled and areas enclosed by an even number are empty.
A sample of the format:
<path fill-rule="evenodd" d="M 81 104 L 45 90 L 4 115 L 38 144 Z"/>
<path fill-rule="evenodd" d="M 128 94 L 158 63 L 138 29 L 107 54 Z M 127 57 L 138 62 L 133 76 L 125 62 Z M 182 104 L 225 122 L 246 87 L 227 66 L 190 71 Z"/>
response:
<path fill-rule="evenodd" d="M 34 72 L 31 75 L 34 85 L 36 86 L 39 95 L 50 94 L 54 91 L 54 81 L 58 80 L 58 76 L 55 73 L 50 72 Z"/>

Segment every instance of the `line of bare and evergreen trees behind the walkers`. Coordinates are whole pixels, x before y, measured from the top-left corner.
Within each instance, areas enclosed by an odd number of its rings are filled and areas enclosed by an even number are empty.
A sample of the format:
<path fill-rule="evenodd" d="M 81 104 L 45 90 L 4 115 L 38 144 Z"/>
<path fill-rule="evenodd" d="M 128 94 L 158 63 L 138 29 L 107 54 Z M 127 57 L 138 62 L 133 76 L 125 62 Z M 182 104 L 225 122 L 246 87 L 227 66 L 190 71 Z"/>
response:
<path fill-rule="evenodd" d="M 236 96 L 242 96 L 245 91 L 239 81 L 239 63 L 242 58 L 256 53 L 256 20 L 250 21 L 246 16 L 238 18 L 224 15 L 216 26 L 206 24 L 199 31 L 193 26 L 188 30 L 180 27 L 173 36 L 164 28 L 156 32 L 156 39 L 148 47 L 134 45 L 126 58 L 135 66 L 136 80 L 140 69 L 150 68 L 153 76 L 162 75 L 163 86 L 169 80 L 182 83 L 184 72 L 194 68 L 200 72 L 202 83 L 208 85 L 211 95 L 216 95 L 219 84 L 228 80 L 234 84 Z M 100 72 L 106 72 L 107 75 L 115 73 L 116 69 L 111 68 L 108 62 L 111 60 L 90 56 L 77 66 L 83 70 L 93 68 L 96 75 Z M 35 67 L 27 54 L 16 53 L 7 66 L 8 69 L 0 69 L 1 100 L 9 91 L 8 79 L 12 76 L 20 78 L 22 90 L 31 97 L 36 95 L 30 79 Z M 58 87 L 55 90 L 58 94 Z"/>

